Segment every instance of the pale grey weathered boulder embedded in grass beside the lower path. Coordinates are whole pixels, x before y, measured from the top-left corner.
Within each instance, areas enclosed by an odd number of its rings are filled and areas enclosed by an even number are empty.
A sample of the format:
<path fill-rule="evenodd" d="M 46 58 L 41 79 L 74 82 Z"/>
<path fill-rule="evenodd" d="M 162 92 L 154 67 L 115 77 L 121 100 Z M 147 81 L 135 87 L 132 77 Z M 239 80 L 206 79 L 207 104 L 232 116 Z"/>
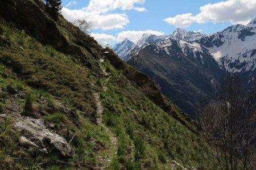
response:
<path fill-rule="evenodd" d="M 35 151 L 47 154 L 48 148 L 53 146 L 64 157 L 72 155 L 68 142 L 60 135 L 46 129 L 42 119 L 20 117 L 16 120 L 14 127 L 22 132 L 20 142 L 27 143 Z"/>

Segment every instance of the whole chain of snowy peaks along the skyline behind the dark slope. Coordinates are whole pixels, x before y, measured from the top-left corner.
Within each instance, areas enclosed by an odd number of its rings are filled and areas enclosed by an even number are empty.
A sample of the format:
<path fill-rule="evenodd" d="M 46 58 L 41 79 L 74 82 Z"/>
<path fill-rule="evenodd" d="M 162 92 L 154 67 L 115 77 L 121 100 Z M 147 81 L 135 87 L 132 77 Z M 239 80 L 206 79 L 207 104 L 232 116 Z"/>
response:
<path fill-rule="evenodd" d="M 134 50 L 139 51 L 145 45 L 164 41 L 166 39 L 183 40 L 190 43 L 197 42 L 207 48 L 221 69 L 230 73 L 251 71 L 256 69 L 256 18 L 247 25 L 233 25 L 222 32 L 203 35 L 200 32 L 185 31 L 177 28 L 171 35 L 156 36 L 144 34 L 134 45 Z M 123 42 L 121 42 L 123 44 Z M 129 59 L 129 50 L 114 48 L 115 52 L 124 60 Z"/>

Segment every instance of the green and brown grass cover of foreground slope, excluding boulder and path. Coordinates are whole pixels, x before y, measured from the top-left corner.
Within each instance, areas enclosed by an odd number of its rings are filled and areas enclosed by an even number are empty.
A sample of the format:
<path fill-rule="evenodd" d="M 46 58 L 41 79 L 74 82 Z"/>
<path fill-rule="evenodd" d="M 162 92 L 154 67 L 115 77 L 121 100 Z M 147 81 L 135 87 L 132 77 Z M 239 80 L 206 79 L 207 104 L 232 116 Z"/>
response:
<path fill-rule="evenodd" d="M 189 118 L 184 118 L 184 113 L 165 99 L 173 116 L 187 127 L 182 125 L 163 111 L 163 106 L 152 102 L 136 82 L 126 78 L 125 70 L 113 67 L 108 60 L 100 65 L 93 56 L 99 53 L 99 48 L 86 46 L 95 43 L 92 38 L 85 36 L 77 45 L 73 28 L 60 19 L 57 25 L 60 32 L 69 37 L 70 45 L 77 46 L 87 56 L 73 57 L 69 52 L 57 52 L 50 45 L 42 45 L 17 29 L 13 22 L 0 20 L 3 36 L 12 44 L 0 46 L 1 114 L 9 114 L 12 107 L 17 113 L 26 113 L 26 96 L 32 94 L 37 112 L 30 116 L 43 118 L 47 128 L 67 141 L 80 130 L 71 141 L 75 153 L 72 158 L 62 160 L 56 153 L 36 154 L 30 147 L 20 145 L 20 133 L 13 128 L 11 118 L 1 118 L 1 168 L 179 168 L 172 160 L 185 167 L 210 167 L 199 137 L 187 128 L 196 131 Z M 109 71 L 108 82 L 101 67 Z M 108 131 L 96 124 L 94 92 L 100 92 L 104 122 L 118 138 L 118 151 L 110 163 L 100 159 L 108 156 L 114 146 Z"/>

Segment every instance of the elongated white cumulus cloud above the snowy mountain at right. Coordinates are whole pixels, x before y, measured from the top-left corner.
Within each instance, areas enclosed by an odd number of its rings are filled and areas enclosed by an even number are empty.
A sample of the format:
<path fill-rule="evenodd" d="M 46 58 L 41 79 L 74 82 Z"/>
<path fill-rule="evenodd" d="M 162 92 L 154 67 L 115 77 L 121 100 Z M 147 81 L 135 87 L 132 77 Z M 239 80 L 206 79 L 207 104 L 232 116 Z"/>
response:
<path fill-rule="evenodd" d="M 256 14 L 256 1 L 228 0 L 200 7 L 199 14 L 191 13 L 176 15 L 164 19 L 164 22 L 176 27 L 188 27 L 192 23 L 231 22 L 232 24 L 247 24 Z"/>

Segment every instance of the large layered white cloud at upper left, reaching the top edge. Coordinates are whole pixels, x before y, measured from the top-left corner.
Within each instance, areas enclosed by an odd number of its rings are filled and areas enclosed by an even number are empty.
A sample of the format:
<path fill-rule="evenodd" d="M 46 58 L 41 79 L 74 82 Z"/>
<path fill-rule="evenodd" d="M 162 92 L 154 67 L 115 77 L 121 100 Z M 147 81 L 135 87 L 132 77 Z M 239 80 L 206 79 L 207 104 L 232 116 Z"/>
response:
<path fill-rule="evenodd" d="M 121 10 L 147 11 L 143 7 L 135 7 L 135 4 L 143 5 L 145 0 L 90 0 L 87 7 L 78 10 L 69 10 L 67 7 L 75 1 L 68 3 L 62 8 L 61 13 L 69 21 L 85 19 L 92 23 L 93 29 L 122 29 L 129 23 L 126 14 L 109 13 L 117 8 Z"/>

